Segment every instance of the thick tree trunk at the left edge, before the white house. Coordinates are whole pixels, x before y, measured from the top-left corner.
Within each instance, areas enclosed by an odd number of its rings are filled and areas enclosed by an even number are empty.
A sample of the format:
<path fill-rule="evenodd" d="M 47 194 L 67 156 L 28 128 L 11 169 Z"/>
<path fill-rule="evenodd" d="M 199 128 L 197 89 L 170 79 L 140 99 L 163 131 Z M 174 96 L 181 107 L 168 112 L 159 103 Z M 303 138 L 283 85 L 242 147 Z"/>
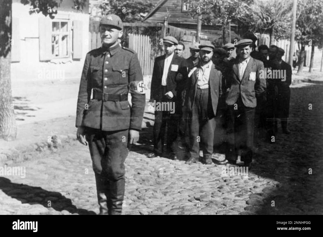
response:
<path fill-rule="evenodd" d="M 17 136 L 17 126 L 10 80 L 12 2 L 10 0 L 0 0 L 0 5 L 0 139 L 13 140 Z"/>

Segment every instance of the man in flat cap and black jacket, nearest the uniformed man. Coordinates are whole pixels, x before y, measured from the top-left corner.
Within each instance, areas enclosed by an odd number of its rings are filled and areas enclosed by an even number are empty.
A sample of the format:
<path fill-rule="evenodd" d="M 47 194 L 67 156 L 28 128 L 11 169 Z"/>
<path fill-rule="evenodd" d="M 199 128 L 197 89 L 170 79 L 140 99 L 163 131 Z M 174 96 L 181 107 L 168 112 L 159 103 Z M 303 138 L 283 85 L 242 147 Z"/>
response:
<path fill-rule="evenodd" d="M 164 136 L 167 126 L 166 149 L 167 156 L 177 159 L 174 149 L 174 141 L 177 138 L 177 125 L 179 114 L 182 111 L 181 90 L 187 77 L 185 59 L 174 54 L 178 41 L 173 36 L 163 39 L 165 54 L 155 59 L 151 78 L 151 102 L 167 103 L 175 107 L 175 111 L 161 111 L 155 109 L 155 123 L 153 128 L 154 151 L 147 157 L 162 156 L 164 153 Z M 182 83 L 182 87 L 178 87 Z M 180 91 L 180 92 L 179 92 Z"/>

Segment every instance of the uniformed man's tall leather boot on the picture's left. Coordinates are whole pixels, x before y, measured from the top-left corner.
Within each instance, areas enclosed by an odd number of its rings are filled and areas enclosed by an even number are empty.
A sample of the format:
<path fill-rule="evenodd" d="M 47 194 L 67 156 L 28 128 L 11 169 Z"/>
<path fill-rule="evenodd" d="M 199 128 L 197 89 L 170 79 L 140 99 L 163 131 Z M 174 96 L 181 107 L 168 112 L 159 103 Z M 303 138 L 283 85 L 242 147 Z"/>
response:
<path fill-rule="evenodd" d="M 99 215 L 108 215 L 108 199 L 109 199 L 109 180 L 102 178 L 100 174 L 95 174 L 97 184 L 97 195 L 99 203 Z"/>

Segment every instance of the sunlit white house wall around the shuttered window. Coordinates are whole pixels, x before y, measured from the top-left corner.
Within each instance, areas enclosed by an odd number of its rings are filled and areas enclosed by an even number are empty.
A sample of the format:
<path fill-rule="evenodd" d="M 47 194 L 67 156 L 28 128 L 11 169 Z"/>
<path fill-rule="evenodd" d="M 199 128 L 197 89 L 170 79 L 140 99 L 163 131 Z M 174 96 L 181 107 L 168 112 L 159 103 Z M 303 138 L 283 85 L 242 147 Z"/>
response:
<path fill-rule="evenodd" d="M 64 11 L 58 9 L 58 14 L 55 19 L 69 18 L 71 22 L 73 20 L 82 21 L 82 58 L 80 60 L 73 60 L 70 58 L 66 60 L 52 60 L 50 62 L 39 61 L 39 24 L 38 19 L 45 16 L 41 13 L 29 15 L 29 5 L 23 5 L 21 3 L 12 4 L 12 17 L 13 21 L 19 21 L 19 42 L 13 42 L 12 47 L 15 44 L 20 44 L 20 61 L 11 63 L 11 81 L 15 86 L 20 80 L 45 80 L 45 78 L 39 78 L 39 72 L 45 70 L 62 70 L 65 72 L 65 79 L 76 79 L 81 77 L 82 68 L 85 60 L 85 55 L 89 49 L 89 14 L 75 13 L 71 11 Z M 49 16 L 47 16 L 49 17 Z M 72 41 L 72 37 L 70 37 Z M 59 62 L 63 61 L 63 62 Z M 53 78 L 51 78 L 53 79 Z M 54 78 L 55 79 L 55 78 Z"/>

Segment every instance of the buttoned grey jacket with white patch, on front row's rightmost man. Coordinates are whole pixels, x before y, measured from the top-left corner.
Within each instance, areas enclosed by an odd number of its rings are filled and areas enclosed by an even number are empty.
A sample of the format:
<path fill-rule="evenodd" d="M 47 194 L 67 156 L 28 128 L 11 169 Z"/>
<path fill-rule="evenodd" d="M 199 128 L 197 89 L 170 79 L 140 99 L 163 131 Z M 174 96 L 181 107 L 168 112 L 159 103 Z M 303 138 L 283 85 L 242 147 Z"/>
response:
<path fill-rule="evenodd" d="M 228 91 L 225 99 L 227 105 L 234 105 L 239 96 L 246 107 L 255 108 L 257 105 L 256 96 L 262 95 L 266 89 L 266 79 L 260 78 L 260 70 L 265 70 L 263 62 L 250 57 L 245 73 L 240 81 L 238 59 L 232 65 L 231 77 L 228 78 Z M 255 78 L 250 74 L 255 73 Z M 255 79 L 255 80 L 252 80 Z"/>

